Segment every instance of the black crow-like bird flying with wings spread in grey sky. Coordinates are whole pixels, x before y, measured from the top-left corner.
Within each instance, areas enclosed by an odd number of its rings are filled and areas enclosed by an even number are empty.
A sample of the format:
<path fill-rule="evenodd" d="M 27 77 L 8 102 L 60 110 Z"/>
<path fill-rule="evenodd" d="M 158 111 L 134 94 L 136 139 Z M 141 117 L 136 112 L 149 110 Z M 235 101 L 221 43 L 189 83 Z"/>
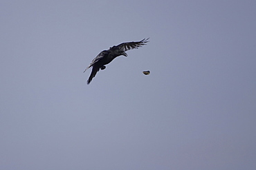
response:
<path fill-rule="evenodd" d="M 113 61 L 117 56 L 128 56 L 125 51 L 132 50 L 134 48 L 142 47 L 143 45 L 146 45 L 148 39 L 143 39 L 142 41 L 137 42 L 127 42 L 127 43 L 120 43 L 119 45 L 114 45 L 113 47 L 110 47 L 109 50 L 104 50 L 98 54 L 98 56 L 91 61 L 91 64 L 86 67 L 86 70 L 89 69 L 89 67 L 93 67 L 91 70 L 91 75 L 89 76 L 87 80 L 87 84 L 89 85 L 97 74 L 99 70 L 104 70 L 108 63 Z M 84 70 L 84 72 L 86 71 Z"/>

